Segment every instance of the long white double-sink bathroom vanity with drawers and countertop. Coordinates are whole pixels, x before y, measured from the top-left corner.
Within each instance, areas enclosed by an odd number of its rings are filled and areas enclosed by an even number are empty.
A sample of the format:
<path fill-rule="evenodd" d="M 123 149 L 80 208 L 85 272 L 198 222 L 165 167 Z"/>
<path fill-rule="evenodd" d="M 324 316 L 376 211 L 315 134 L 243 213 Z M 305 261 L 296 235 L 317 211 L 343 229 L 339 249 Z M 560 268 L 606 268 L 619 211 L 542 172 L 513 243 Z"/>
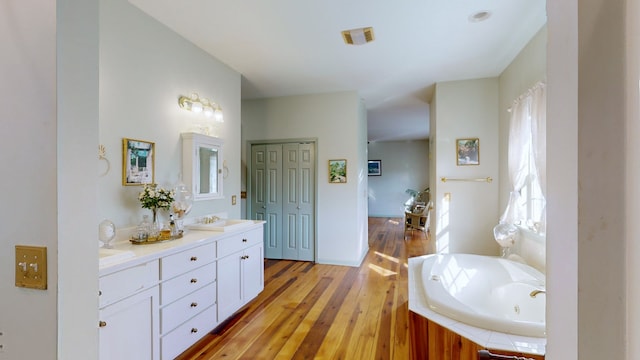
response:
<path fill-rule="evenodd" d="M 100 359 L 173 359 L 254 299 L 263 224 L 101 252 Z"/>

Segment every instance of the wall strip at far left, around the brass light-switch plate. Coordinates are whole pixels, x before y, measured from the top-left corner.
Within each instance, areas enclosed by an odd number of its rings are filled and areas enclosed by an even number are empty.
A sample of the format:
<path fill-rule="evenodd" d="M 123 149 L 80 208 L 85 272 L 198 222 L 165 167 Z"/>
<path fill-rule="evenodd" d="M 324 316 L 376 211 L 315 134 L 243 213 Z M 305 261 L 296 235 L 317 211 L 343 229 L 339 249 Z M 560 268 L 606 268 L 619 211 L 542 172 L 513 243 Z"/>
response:
<path fill-rule="evenodd" d="M 55 359 L 56 2 L 9 0 L 0 9 L 0 359 Z M 47 290 L 14 286 L 17 244 L 47 247 Z"/>

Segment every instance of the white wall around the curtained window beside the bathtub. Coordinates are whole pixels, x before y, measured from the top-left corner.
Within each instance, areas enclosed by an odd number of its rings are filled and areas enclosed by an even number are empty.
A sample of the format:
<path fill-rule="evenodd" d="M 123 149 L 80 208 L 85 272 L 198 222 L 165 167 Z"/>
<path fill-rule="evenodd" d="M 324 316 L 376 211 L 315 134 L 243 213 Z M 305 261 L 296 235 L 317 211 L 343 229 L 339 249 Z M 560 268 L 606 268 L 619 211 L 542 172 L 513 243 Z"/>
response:
<path fill-rule="evenodd" d="M 502 72 L 500 81 L 500 214 L 509 199 L 508 142 L 510 113 L 507 111 L 515 99 L 524 94 L 539 81 L 546 81 L 547 76 L 547 28 L 544 26 L 529 41 L 511 64 Z M 539 236 L 520 236 L 512 249 L 524 258 L 527 263 L 538 270 L 545 271 L 545 242 Z"/>

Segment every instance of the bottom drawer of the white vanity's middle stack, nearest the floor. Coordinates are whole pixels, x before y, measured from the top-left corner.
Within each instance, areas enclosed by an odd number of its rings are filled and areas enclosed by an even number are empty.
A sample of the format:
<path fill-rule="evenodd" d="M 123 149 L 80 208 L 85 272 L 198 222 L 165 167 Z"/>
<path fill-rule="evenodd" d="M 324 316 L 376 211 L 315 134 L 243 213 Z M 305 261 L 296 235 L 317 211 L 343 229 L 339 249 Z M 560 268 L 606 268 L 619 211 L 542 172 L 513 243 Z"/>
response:
<path fill-rule="evenodd" d="M 213 330 L 217 324 L 216 306 L 213 305 L 162 337 L 160 340 L 162 359 L 175 359 L 207 332 Z"/>

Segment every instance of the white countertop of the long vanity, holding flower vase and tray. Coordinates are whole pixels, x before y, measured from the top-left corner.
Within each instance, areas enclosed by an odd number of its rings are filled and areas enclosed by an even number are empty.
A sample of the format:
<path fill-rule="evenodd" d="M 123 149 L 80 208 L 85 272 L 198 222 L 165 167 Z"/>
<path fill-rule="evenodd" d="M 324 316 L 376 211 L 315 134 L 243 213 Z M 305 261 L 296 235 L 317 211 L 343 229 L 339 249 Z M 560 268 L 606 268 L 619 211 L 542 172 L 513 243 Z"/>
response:
<path fill-rule="evenodd" d="M 135 245 L 129 240 L 120 240 L 113 243 L 112 249 L 106 250 L 116 254 L 114 255 L 114 259 L 117 260 L 101 262 L 99 276 L 108 275 L 124 268 L 178 253 L 209 242 L 218 241 L 247 230 L 255 229 L 256 227 L 261 227 L 264 223 L 265 221 L 262 220 L 254 220 L 251 225 L 224 232 L 187 229 L 179 239 L 158 242 L 156 244 Z M 107 254 L 104 254 L 106 251 L 103 249 L 100 249 L 100 251 L 103 252 L 101 255 L 105 256 L 103 259 L 108 260 L 108 257 L 106 257 Z M 118 257 L 117 254 L 126 254 L 126 256 Z"/>

